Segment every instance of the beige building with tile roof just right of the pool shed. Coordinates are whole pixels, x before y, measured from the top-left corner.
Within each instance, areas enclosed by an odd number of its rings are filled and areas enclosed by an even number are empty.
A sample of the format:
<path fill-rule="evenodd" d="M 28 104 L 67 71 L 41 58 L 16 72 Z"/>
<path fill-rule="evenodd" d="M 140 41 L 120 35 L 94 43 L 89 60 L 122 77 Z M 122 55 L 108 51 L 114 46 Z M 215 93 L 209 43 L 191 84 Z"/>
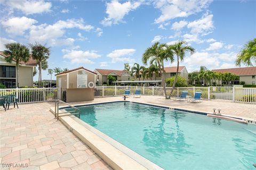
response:
<path fill-rule="evenodd" d="M 116 81 L 126 81 L 133 79 L 133 77 L 131 78 L 131 73 L 129 71 L 95 69 L 94 72 L 97 73 L 96 83 L 98 83 L 98 86 L 108 84 L 108 75 L 115 77 Z"/>

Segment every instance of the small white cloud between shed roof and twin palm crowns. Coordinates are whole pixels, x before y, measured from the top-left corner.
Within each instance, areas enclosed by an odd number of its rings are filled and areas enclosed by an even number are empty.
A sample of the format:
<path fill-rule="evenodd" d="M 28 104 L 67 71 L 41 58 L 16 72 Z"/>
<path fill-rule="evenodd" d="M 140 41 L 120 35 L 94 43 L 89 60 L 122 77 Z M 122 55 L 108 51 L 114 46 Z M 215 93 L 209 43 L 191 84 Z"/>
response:
<path fill-rule="evenodd" d="M 111 63 L 116 62 L 125 62 L 125 63 L 132 63 L 134 62 L 134 59 L 131 58 L 131 56 L 134 54 L 136 50 L 135 49 L 115 49 L 111 53 L 107 55 L 107 57 L 110 57 Z"/>

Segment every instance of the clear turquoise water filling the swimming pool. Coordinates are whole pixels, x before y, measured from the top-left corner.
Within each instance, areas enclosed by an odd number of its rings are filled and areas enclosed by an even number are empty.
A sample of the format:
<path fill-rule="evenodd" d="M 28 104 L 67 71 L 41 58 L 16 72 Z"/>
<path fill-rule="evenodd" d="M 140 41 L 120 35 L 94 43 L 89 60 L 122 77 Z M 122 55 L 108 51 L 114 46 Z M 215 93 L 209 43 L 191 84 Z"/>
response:
<path fill-rule="evenodd" d="M 81 120 L 164 169 L 256 169 L 256 126 L 129 102 L 79 107 Z"/>

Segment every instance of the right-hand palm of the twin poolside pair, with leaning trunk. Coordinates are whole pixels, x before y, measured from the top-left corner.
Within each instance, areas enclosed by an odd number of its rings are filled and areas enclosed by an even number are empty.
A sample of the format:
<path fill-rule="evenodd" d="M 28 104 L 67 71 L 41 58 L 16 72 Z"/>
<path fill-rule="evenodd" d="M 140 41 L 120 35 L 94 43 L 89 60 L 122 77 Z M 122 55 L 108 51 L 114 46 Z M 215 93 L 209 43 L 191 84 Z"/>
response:
<path fill-rule="evenodd" d="M 178 41 L 178 43 L 175 43 L 174 45 L 170 45 L 167 47 L 167 51 L 169 53 L 175 54 L 177 56 L 177 70 L 175 79 L 172 85 L 171 94 L 169 95 L 169 98 L 171 98 L 172 92 L 174 90 L 175 84 L 178 79 L 178 72 L 179 72 L 179 64 L 183 61 L 183 59 L 186 56 L 186 52 L 190 52 L 190 55 L 195 53 L 195 48 L 188 46 L 186 41 Z"/>

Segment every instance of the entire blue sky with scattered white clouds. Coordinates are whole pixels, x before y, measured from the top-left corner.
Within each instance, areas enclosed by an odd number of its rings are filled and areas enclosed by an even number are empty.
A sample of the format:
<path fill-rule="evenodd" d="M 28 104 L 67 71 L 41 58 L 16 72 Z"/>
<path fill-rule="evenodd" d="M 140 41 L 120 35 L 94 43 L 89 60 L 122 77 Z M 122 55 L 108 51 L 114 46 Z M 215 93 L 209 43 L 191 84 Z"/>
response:
<path fill-rule="evenodd" d="M 51 49 L 49 69 L 123 70 L 124 63 L 142 65 L 142 54 L 157 41 L 186 40 L 196 49 L 180 63 L 189 72 L 225 69 L 236 67 L 237 53 L 256 37 L 255 18 L 256 1 L 1 0 L 0 50 L 37 42 Z"/>

